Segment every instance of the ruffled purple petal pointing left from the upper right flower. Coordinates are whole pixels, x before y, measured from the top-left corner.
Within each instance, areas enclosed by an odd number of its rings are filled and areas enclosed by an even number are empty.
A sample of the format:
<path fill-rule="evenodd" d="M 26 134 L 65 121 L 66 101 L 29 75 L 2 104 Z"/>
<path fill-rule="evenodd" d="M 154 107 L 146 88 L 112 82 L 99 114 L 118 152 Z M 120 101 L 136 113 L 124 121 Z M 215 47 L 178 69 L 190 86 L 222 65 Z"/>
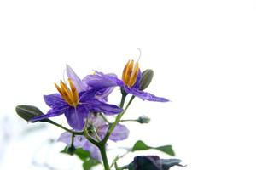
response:
<path fill-rule="evenodd" d="M 92 88 L 110 88 L 123 85 L 123 81 L 119 80 L 115 75 L 103 74 L 98 71 L 96 71 L 95 75 L 84 77 L 83 81 Z"/>

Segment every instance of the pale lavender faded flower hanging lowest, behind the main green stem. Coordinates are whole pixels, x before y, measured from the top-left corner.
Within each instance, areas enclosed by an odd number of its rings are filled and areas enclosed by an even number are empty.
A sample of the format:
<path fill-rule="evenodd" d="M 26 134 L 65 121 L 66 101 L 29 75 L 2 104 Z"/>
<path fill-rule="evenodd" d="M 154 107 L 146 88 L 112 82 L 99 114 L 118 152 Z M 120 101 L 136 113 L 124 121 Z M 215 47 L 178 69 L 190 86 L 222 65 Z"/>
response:
<path fill-rule="evenodd" d="M 103 139 L 108 131 L 108 124 L 102 119 L 101 116 L 96 116 L 94 114 L 90 114 L 88 117 L 88 123 L 95 128 L 96 134 L 91 133 L 90 136 L 96 139 L 96 135 L 99 139 Z M 127 127 L 121 124 L 117 124 L 114 128 L 113 133 L 111 133 L 109 139 L 113 141 L 119 141 L 127 139 L 129 135 L 129 130 Z M 60 138 L 58 139 L 61 142 L 64 142 L 67 145 L 71 145 L 72 134 L 65 132 L 62 133 Z M 76 135 L 74 137 L 73 146 L 75 148 L 83 148 L 84 150 L 90 151 L 90 156 L 94 159 L 101 161 L 101 153 L 100 150 L 94 145 L 91 144 L 89 140 L 87 140 L 83 135 Z"/>

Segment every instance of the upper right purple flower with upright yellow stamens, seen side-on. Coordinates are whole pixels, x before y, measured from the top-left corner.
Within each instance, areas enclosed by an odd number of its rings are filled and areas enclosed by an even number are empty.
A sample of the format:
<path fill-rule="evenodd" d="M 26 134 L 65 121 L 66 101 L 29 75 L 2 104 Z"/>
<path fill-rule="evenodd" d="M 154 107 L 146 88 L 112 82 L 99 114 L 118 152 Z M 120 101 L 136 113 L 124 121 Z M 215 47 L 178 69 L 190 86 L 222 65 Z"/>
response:
<path fill-rule="evenodd" d="M 154 94 L 149 94 L 139 89 L 140 87 L 140 79 L 141 79 L 141 71 L 139 69 L 138 63 L 133 65 L 133 60 L 129 60 L 125 65 L 125 69 L 123 71 L 122 80 L 112 75 L 103 74 L 102 72 L 96 71 L 95 75 L 89 75 L 84 78 L 84 82 L 86 82 L 90 87 L 93 88 L 111 88 L 119 86 L 127 94 L 132 94 L 141 99 L 146 99 L 148 101 L 158 101 L 158 102 L 166 102 L 169 101 L 165 98 L 160 98 L 155 96 Z"/>

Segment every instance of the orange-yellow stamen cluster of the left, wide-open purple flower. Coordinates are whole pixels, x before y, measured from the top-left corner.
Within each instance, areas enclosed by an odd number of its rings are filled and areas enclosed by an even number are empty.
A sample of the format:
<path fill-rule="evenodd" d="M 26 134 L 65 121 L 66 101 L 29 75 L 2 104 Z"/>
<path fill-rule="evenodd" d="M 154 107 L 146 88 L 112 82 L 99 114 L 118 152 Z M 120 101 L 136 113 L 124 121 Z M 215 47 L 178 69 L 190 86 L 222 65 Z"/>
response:
<path fill-rule="evenodd" d="M 69 86 L 67 87 L 67 84 L 61 81 L 61 86 L 58 86 L 55 83 L 55 87 L 61 94 L 62 99 L 64 99 L 68 105 L 71 105 L 73 107 L 79 105 L 79 93 L 77 88 L 73 85 L 73 82 L 70 78 L 68 78 Z"/>

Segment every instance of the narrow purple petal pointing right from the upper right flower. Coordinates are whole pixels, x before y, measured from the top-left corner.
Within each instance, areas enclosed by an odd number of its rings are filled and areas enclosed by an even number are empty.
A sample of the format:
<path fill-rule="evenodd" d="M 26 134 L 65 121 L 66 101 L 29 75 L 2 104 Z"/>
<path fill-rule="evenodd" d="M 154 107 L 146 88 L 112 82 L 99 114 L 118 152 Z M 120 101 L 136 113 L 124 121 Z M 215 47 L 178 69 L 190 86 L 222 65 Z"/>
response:
<path fill-rule="evenodd" d="M 160 97 L 156 97 L 154 94 L 149 94 L 147 92 L 143 92 L 137 88 L 127 88 L 125 87 L 125 92 L 128 94 L 133 94 L 135 96 L 137 96 L 140 99 L 146 99 L 148 101 L 158 101 L 158 102 L 167 102 L 169 101 L 166 98 L 160 98 Z"/>

